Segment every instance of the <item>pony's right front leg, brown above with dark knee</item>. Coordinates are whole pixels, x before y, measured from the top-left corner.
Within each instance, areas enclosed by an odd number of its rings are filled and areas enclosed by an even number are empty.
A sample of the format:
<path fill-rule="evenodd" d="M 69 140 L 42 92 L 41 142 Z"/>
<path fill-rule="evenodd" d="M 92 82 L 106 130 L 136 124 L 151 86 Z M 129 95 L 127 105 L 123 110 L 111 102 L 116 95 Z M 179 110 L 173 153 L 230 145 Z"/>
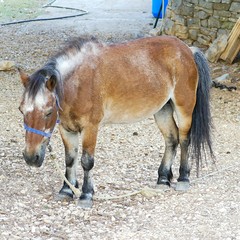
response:
<path fill-rule="evenodd" d="M 85 127 L 82 131 L 82 158 L 81 164 L 84 171 L 82 194 L 79 199 L 79 206 L 82 208 L 91 208 L 93 205 L 93 183 L 91 169 L 94 166 L 94 151 L 97 141 L 98 127 L 91 125 Z"/>

